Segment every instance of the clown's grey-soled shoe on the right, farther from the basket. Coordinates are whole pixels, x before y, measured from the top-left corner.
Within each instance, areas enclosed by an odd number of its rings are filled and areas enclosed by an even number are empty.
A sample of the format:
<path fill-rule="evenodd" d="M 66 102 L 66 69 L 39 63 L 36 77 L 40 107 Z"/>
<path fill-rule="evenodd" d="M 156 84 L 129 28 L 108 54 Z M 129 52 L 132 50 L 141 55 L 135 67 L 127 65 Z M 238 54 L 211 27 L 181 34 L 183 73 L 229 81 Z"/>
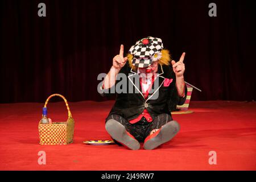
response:
<path fill-rule="evenodd" d="M 160 144 L 170 141 L 180 130 L 179 123 L 176 121 L 170 121 L 163 125 L 161 129 L 156 131 L 144 140 L 144 149 L 153 150 L 160 146 Z"/>

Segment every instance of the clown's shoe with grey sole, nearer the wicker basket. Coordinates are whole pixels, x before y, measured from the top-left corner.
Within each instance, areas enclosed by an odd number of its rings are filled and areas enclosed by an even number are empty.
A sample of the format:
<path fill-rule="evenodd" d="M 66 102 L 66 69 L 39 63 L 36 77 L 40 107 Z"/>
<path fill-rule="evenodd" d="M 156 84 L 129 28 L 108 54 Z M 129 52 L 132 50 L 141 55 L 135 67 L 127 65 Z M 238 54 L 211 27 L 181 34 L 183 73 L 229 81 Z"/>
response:
<path fill-rule="evenodd" d="M 106 122 L 105 127 L 109 135 L 113 139 L 117 140 L 117 142 L 123 144 L 123 146 L 126 146 L 131 150 L 139 150 L 139 148 L 141 147 L 138 140 L 135 139 L 133 135 L 128 133 L 125 129 L 125 126 L 123 126 L 118 121 L 115 121 L 114 119 L 109 119 L 109 121 Z"/>

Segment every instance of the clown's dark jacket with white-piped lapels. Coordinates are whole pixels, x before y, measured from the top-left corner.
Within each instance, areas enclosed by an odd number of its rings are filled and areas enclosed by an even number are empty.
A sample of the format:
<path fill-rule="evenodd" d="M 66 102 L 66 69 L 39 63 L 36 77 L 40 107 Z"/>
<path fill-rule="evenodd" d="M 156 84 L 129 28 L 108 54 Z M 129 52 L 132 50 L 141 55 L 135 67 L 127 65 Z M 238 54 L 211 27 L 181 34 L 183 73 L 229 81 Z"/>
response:
<path fill-rule="evenodd" d="M 141 84 L 138 84 L 139 75 L 137 71 L 129 67 L 129 63 L 126 63 L 119 73 L 126 75 L 126 86 L 129 90 L 126 93 L 114 93 L 116 94 L 115 104 L 109 115 L 118 114 L 130 121 L 147 109 L 154 119 L 159 114 L 171 114 L 171 111 L 176 109 L 176 105 L 183 105 L 186 100 L 187 86 L 185 86 L 185 97 L 179 97 L 176 89 L 176 76 L 170 65 L 158 65 L 158 74 L 147 99 L 142 94 Z M 165 78 L 172 79 L 170 85 L 164 86 Z M 115 86 L 120 86 L 118 79 Z M 104 93 L 101 93 L 101 96 L 112 95 L 111 89 L 113 91 L 114 86 L 102 90 Z"/>

